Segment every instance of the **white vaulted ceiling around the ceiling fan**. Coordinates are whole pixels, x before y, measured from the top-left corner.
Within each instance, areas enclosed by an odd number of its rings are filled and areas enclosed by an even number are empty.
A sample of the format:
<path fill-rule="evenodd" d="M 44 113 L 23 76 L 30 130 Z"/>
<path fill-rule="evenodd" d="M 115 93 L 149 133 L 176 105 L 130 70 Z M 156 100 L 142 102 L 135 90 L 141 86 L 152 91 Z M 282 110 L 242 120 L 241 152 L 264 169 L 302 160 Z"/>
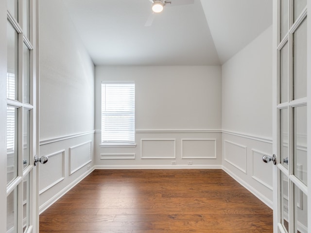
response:
<path fill-rule="evenodd" d="M 146 27 L 150 0 L 63 0 L 95 65 L 220 65 L 272 24 L 272 0 L 171 1 Z"/>

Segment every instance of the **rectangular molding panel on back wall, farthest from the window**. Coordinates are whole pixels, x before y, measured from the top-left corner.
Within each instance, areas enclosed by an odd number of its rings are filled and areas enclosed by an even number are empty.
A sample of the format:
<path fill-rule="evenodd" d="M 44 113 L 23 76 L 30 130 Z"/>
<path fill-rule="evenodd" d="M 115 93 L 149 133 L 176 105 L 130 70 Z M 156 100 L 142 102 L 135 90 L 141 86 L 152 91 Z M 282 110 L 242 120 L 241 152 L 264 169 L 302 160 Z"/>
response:
<path fill-rule="evenodd" d="M 216 159 L 216 139 L 181 139 L 182 159 Z"/>

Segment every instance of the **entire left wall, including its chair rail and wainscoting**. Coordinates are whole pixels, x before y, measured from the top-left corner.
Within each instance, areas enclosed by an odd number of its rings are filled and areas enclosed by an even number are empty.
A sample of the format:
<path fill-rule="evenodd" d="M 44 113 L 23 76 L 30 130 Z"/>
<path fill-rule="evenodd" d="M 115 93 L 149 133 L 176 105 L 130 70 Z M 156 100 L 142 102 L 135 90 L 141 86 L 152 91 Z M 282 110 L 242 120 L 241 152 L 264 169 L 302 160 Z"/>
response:
<path fill-rule="evenodd" d="M 94 65 L 61 0 L 40 1 L 40 211 L 93 166 Z"/>

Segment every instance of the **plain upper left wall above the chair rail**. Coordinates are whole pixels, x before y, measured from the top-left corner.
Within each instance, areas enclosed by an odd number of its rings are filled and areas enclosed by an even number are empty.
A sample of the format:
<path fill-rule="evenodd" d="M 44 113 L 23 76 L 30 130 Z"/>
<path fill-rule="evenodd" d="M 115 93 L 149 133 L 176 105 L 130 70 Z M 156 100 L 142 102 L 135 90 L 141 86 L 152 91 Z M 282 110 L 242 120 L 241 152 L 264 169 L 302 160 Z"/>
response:
<path fill-rule="evenodd" d="M 43 140 L 94 129 L 94 65 L 62 4 L 40 2 Z"/>

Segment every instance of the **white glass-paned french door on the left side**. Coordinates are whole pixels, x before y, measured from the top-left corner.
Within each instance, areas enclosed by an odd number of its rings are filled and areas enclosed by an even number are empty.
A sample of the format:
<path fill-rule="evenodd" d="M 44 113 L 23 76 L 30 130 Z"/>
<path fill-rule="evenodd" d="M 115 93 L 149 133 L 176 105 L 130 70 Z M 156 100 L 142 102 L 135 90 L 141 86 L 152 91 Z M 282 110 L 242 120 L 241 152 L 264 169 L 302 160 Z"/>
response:
<path fill-rule="evenodd" d="M 6 3 L 6 233 L 35 233 L 37 1 Z"/>

